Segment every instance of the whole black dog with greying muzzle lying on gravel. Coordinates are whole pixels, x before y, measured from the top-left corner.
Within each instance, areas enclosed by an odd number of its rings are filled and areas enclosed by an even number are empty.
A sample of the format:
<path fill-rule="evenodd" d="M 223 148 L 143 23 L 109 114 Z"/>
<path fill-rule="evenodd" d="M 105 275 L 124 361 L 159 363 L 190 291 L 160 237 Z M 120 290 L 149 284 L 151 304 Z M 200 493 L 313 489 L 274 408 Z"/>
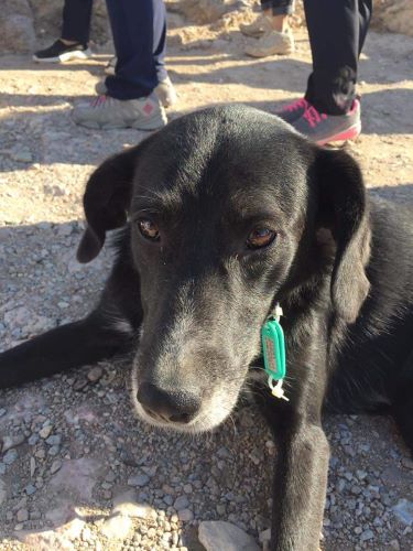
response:
<path fill-rule="evenodd" d="M 388 407 L 413 450 L 413 213 L 368 198 L 346 153 L 246 107 L 188 115 L 109 159 L 85 213 L 80 262 L 123 227 L 100 303 L 0 355 L 0 386 L 132 349 L 139 415 L 199 432 L 248 380 L 279 450 L 271 549 L 317 549 L 323 407 Z M 289 401 L 251 367 L 278 302 Z"/>

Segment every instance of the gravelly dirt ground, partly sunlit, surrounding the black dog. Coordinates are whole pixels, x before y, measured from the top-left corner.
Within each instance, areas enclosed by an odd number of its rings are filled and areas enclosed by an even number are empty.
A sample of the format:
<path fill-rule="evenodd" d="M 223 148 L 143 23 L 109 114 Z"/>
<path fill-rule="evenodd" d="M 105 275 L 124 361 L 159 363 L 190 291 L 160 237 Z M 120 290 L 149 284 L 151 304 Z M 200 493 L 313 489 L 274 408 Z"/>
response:
<path fill-rule="evenodd" d="M 167 65 L 180 94 L 171 119 L 230 101 L 273 111 L 303 91 L 305 30 L 294 55 L 251 60 L 236 15 L 211 26 L 176 13 L 170 22 Z M 108 273 L 109 248 L 91 264 L 75 260 L 83 188 L 100 161 L 144 136 L 70 120 L 107 60 L 102 51 L 63 66 L 0 57 L 0 349 L 86 314 Z M 349 145 L 373 193 L 401 202 L 413 201 L 412 66 L 413 39 L 370 33 L 360 64 L 363 133 Z M 275 450 L 254 409 L 208 436 L 154 432 L 134 419 L 128 371 L 127 360 L 102 363 L 0 392 L 1 550 L 197 551 L 200 521 L 229 521 L 257 542 L 269 528 Z M 393 423 L 332 417 L 325 426 L 322 547 L 411 550 L 413 462 Z"/>

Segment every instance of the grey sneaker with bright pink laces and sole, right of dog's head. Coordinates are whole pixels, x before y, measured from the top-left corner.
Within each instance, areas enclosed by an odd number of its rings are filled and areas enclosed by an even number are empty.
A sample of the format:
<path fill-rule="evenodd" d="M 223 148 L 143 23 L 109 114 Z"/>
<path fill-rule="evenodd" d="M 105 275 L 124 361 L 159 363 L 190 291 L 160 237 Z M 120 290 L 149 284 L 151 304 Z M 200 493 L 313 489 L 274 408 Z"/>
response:
<path fill-rule="evenodd" d="M 318 145 L 354 140 L 361 132 L 360 101 L 355 99 L 351 109 L 346 115 L 326 115 L 308 104 L 304 115 L 292 126 Z"/>

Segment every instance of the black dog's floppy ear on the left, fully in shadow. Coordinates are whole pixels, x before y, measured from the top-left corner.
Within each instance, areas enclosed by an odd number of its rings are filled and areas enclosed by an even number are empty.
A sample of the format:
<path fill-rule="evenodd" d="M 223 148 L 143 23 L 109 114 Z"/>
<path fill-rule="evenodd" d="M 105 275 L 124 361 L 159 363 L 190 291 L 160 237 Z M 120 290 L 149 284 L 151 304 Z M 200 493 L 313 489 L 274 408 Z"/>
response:
<path fill-rule="evenodd" d="M 77 249 L 77 260 L 96 258 L 105 244 L 106 231 L 123 226 L 132 193 L 138 148 L 107 159 L 89 177 L 84 195 L 87 227 Z"/>

